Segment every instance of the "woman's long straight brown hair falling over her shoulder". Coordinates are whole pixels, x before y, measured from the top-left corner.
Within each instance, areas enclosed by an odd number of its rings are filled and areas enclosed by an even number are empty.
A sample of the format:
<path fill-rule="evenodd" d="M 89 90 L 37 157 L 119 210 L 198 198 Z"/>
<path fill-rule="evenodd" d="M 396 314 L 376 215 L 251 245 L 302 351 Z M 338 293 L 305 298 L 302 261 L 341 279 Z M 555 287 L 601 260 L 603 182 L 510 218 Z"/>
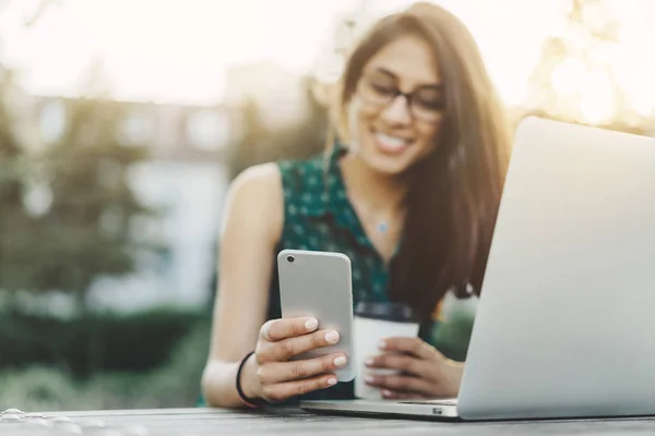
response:
<path fill-rule="evenodd" d="M 337 130 L 347 137 L 347 106 L 367 62 L 408 34 L 425 39 L 443 78 L 445 109 L 437 150 L 414 169 L 401 250 L 391 265 L 391 299 L 424 318 L 453 288 L 479 293 L 509 157 L 503 109 L 478 47 L 464 24 L 431 3 L 380 20 L 346 62 Z"/>

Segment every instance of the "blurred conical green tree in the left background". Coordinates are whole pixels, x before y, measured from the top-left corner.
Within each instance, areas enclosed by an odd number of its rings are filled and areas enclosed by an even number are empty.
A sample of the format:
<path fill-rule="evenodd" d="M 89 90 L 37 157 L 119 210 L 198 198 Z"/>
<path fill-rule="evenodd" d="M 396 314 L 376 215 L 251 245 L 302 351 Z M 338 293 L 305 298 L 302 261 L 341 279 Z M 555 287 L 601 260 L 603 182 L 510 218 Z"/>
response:
<path fill-rule="evenodd" d="M 97 278 L 132 272 L 140 254 L 163 246 L 143 239 L 136 227 L 140 217 L 155 210 L 130 185 L 131 166 L 147 154 L 117 140 L 122 106 L 103 98 L 64 101 L 64 133 L 40 168 L 50 199 L 37 218 L 32 286 L 72 293 L 84 312 Z"/>

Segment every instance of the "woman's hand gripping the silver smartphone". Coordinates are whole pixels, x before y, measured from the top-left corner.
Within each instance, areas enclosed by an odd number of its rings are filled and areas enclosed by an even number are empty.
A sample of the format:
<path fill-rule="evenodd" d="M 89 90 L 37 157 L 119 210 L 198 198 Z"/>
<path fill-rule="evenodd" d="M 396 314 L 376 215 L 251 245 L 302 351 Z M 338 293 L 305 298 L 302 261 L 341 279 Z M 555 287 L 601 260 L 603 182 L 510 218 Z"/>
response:
<path fill-rule="evenodd" d="M 347 362 L 344 354 L 289 361 L 297 354 L 338 342 L 336 330 L 317 330 L 318 325 L 311 317 L 273 319 L 264 324 L 251 358 L 254 377 L 249 380 L 249 390 L 276 402 L 335 385 L 334 371 Z"/>

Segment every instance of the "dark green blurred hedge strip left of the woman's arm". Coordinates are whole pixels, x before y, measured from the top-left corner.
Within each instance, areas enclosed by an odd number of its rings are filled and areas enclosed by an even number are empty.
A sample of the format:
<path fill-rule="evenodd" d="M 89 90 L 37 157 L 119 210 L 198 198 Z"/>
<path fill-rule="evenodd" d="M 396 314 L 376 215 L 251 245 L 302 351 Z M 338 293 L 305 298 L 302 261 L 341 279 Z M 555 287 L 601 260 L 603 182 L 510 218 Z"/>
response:
<path fill-rule="evenodd" d="M 96 372 L 143 372 L 158 367 L 204 313 L 157 311 L 133 315 L 93 314 L 73 320 L 0 316 L 0 368 L 34 364 L 72 377 Z"/>

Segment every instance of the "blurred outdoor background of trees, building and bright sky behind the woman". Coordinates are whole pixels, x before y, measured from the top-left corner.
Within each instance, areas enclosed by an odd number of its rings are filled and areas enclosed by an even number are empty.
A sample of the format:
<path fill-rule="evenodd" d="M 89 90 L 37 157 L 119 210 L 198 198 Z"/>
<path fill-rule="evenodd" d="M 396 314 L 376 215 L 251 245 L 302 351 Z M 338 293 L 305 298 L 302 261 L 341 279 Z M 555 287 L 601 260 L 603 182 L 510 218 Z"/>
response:
<path fill-rule="evenodd" d="M 652 0 L 441 0 L 514 122 L 655 135 Z M 0 0 L 0 409 L 194 405 L 224 195 L 405 0 Z"/>

